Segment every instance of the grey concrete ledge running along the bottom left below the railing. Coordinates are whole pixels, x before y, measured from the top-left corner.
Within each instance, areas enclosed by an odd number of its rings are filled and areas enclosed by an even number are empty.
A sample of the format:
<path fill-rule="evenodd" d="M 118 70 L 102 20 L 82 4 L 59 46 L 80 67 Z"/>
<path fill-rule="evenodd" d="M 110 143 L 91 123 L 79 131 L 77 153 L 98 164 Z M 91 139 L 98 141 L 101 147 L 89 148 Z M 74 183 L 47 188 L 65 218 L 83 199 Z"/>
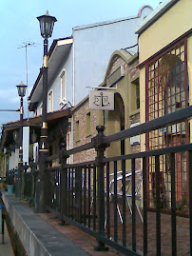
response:
<path fill-rule="evenodd" d="M 28 256 L 88 255 L 13 195 L 2 192 L 2 200 Z"/>

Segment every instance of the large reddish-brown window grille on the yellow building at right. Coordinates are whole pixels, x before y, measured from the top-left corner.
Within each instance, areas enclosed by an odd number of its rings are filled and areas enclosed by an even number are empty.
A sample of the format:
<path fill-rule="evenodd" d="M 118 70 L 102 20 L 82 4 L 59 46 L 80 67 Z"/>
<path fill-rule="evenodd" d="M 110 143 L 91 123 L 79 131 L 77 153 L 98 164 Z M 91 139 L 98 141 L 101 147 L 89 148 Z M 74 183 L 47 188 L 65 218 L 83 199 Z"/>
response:
<path fill-rule="evenodd" d="M 146 121 L 188 106 L 186 39 L 166 49 L 146 63 Z M 148 132 L 146 149 L 178 146 L 189 141 L 187 121 Z M 177 210 L 187 213 L 187 154 L 175 154 Z M 155 157 L 148 160 L 148 206 L 155 206 Z M 170 208 L 171 180 L 169 157 L 161 156 L 162 208 Z"/>

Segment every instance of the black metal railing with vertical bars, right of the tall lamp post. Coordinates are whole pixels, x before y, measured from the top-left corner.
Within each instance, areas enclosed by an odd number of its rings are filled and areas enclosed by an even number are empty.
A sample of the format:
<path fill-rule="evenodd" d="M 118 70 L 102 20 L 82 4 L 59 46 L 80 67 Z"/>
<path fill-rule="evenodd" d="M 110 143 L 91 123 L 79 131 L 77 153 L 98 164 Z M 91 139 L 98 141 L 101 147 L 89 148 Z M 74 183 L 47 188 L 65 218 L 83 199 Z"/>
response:
<path fill-rule="evenodd" d="M 164 248 L 167 250 L 167 246 L 170 246 L 170 253 L 176 255 L 177 250 L 182 246 L 180 245 L 182 240 L 180 240 L 180 230 L 177 226 L 181 211 L 177 208 L 175 163 L 176 154 L 184 152 L 187 159 L 187 193 L 186 207 L 182 215 L 187 220 L 188 228 L 185 229 L 184 239 L 188 242 L 188 251 L 191 255 L 192 144 L 105 157 L 106 148 L 113 142 L 136 135 L 147 135 L 149 131 L 183 121 L 189 126 L 191 115 L 192 107 L 187 107 L 110 136 L 104 135 L 104 127 L 97 127 L 98 135 L 92 138 L 90 143 L 67 151 L 63 149 L 60 152 L 61 167 L 47 169 L 51 184 L 48 211 L 59 216 L 62 221 L 77 226 L 94 236 L 98 243 L 95 247 L 97 250 L 106 250 L 107 245 L 125 255 L 163 255 Z M 67 164 L 68 155 L 90 148 L 95 148 L 97 151 L 94 161 Z M 168 194 L 163 190 L 161 183 L 161 169 L 163 165 L 166 165 L 162 163 L 162 156 L 169 159 Z M 53 158 L 54 156 L 49 157 L 48 160 Z M 142 170 L 135 168 L 137 159 L 141 159 Z M 148 175 L 150 159 L 154 162 L 155 187 L 152 188 Z M 153 189 L 153 212 L 149 211 L 151 210 L 151 189 Z M 168 197 L 170 201 L 167 211 L 164 211 L 162 207 L 163 197 Z M 164 216 L 165 221 L 163 221 Z M 167 241 L 163 240 L 163 229 L 166 231 L 166 228 L 170 230 L 168 245 Z M 154 244 L 151 244 L 151 241 Z"/>

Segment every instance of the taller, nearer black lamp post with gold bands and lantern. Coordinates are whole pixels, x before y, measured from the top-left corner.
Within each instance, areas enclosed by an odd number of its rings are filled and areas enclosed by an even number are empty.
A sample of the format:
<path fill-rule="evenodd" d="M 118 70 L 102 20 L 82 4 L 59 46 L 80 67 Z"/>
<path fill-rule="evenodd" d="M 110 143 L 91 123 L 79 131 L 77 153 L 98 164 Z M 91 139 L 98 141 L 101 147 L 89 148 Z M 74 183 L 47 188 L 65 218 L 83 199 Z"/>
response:
<path fill-rule="evenodd" d="M 36 212 L 45 212 L 45 158 L 48 155 L 48 123 L 47 123 L 47 101 L 48 101 L 48 38 L 52 35 L 55 17 L 47 13 L 37 17 L 40 23 L 41 35 L 44 38 L 44 60 L 43 60 L 43 110 L 42 128 L 39 147 L 40 175 L 36 187 Z"/>

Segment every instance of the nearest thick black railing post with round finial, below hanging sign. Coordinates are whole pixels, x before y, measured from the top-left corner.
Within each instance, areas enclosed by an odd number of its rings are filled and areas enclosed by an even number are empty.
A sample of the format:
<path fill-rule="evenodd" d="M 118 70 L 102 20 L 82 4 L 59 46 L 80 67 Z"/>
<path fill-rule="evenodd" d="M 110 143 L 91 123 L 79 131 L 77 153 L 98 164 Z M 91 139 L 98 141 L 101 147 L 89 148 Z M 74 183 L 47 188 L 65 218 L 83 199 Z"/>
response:
<path fill-rule="evenodd" d="M 96 167 L 97 167 L 97 181 L 98 181 L 98 221 L 99 221 L 99 234 L 100 236 L 105 235 L 105 175 L 104 175 L 104 166 L 103 160 L 105 158 L 104 152 L 108 145 L 104 143 L 104 126 L 97 126 L 97 136 L 92 139 L 94 143 L 94 148 L 97 152 L 96 157 Z M 100 237 L 97 238 L 98 245 L 95 246 L 95 250 L 106 251 L 108 247 L 100 240 Z"/>

